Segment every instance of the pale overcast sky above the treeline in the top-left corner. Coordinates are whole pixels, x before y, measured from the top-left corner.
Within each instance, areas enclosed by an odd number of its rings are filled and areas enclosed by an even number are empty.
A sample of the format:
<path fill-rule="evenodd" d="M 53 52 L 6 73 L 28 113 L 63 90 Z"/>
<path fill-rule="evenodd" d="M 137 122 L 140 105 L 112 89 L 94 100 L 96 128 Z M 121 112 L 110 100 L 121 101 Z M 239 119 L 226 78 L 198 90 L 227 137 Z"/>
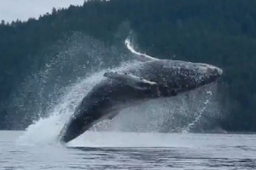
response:
<path fill-rule="evenodd" d="M 82 5 L 84 0 L 0 0 L 1 20 L 38 19 L 40 14 L 51 12 L 55 8 L 67 8 L 69 5 Z"/>

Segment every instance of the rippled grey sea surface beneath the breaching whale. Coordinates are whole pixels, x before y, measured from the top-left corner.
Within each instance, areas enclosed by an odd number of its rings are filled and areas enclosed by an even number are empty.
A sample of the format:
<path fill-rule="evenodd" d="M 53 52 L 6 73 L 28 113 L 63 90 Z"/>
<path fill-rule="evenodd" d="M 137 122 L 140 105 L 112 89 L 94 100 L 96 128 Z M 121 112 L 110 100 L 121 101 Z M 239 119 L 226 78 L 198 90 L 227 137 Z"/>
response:
<path fill-rule="evenodd" d="M 0 131 L 1 170 L 256 169 L 253 134 L 87 132 L 62 146 L 23 133 Z"/>

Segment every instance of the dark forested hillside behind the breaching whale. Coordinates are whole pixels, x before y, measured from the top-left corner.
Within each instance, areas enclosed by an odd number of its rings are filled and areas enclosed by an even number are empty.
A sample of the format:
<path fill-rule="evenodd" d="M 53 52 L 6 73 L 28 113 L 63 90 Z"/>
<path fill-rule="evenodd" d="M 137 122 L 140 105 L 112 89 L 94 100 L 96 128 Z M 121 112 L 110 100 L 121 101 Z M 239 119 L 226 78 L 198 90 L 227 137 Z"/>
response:
<path fill-rule="evenodd" d="M 223 68 L 219 99 L 227 116 L 218 124 L 229 131 L 255 132 L 255 8 L 252 0 L 91 0 L 82 6 L 53 8 L 38 20 L 2 20 L 0 127 L 24 129 L 32 123 L 30 111 L 19 110 L 21 105 L 10 101 L 32 72 L 42 70 L 49 59 L 60 54 L 55 44 L 63 42 L 61 47 L 65 47 L 64 42 L 80 32 L 101 42 L 102 47 L 118 47 L 132 31 L 137 48 L 149 55 L 160 59 L 175 55 L 174 59 Z M 108 59 L 108 55 L 104 57 Z M 62 78 L 66 74 L 68 71 Z M 26 97 L 34 105 L 36 100 L 30 95 Z M 17 120 L 14 115 L 19 115 L 20 122 L 11 126 Z"/>

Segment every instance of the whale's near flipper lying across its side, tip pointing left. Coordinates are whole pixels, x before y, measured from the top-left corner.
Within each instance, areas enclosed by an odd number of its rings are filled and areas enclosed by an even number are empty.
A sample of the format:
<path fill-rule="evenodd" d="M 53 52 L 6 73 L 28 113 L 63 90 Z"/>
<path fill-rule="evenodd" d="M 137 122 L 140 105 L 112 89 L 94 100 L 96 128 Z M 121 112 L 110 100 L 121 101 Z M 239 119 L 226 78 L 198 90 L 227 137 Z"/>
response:
<path fill-rule="evenodd" d="M 113 80 L 117 80 L 119 82 L 123 82 L 133 88 L 137 88 L 137 89 L 148 89 L 151 88 L 153 86 L 157 86 L 156 82 L 150 82 L 146 79 L 143 79 L 142 77 L 135 77 L 131 74 L 121 74 L 118 72 L 106 72 L 104 75 L 104 77 L 108 77 L 111 78 Z"/>

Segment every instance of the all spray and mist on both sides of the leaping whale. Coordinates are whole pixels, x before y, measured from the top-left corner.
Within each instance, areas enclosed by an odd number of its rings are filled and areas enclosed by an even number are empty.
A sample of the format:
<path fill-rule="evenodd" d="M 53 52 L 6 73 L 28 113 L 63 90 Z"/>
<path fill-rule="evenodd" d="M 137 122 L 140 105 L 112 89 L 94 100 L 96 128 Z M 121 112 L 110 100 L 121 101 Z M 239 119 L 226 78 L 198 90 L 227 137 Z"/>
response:
<path fill-rule="evenodd" d="M 106 71 L 120 71 L 137 65 L 128 50 L 119 50 L 118 46 L 108 48 L 79 33 L 63 44 L 58 48 L 60 53 L 50 59 L 42 71 L 29 77 L 12 101 L 34 120 L 18 139 L 20 144 L 55 144 L 75 107 L 97 82 L 105 78 Z M 125 109 L 113 120 L 100 122 L 90 131 L 200 131 L 221 116 L 215 96 L 217 88 L 212 84 L 189 94 Z M 17 116 L 14 124 L 19 124 L 20 120 L 24 117 Z"/>

